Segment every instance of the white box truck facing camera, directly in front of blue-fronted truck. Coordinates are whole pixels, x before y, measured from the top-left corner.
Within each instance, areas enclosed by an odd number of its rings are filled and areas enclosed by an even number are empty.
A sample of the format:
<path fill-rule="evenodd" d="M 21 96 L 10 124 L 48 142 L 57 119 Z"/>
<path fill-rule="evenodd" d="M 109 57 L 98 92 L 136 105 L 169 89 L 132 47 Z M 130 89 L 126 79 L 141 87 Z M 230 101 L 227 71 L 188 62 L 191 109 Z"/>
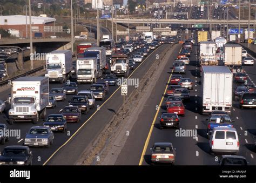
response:
<path fill-rule="evenodd" d="M 97 78 L 102 76 L 102 72 L 97 65 L 97 58 L 77 59 L 77 83 L 96 83 Z"/>

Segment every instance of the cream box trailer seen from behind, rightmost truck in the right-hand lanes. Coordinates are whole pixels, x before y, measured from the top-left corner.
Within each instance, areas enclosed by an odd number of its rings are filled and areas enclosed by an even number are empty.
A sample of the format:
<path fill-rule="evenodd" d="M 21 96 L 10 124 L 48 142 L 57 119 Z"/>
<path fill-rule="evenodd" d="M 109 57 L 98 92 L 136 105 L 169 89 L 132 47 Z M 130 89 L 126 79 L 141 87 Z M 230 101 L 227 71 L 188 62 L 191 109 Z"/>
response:
<path fill-rule="evenodd" d="M 224 53 L 224 65 L 242 65 L 242 46 L 225 44 Z"/>

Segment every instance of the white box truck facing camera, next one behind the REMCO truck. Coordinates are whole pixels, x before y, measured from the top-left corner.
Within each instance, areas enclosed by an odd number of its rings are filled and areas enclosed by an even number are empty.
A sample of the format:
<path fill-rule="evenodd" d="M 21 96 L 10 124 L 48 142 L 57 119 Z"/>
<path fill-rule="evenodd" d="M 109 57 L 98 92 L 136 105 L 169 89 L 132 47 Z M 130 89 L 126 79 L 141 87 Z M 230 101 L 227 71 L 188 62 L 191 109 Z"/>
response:
<path fill-rule="evenodd" d="M 55 50 L 46 55 L 46 74 L 50 82 L 66 82 L 71 76 L 72 53 L 70 50 Z"/>

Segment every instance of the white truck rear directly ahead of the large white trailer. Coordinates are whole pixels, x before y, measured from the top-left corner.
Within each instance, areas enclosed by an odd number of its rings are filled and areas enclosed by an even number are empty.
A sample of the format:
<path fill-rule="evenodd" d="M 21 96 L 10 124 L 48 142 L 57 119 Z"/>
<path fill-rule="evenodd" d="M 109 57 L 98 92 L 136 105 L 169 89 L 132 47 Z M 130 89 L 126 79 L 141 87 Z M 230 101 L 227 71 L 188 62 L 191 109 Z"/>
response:
<path fill-rule="evenodd" d="M 200 64 L 217 65 L 215 42 L 200 42 Z"/>

